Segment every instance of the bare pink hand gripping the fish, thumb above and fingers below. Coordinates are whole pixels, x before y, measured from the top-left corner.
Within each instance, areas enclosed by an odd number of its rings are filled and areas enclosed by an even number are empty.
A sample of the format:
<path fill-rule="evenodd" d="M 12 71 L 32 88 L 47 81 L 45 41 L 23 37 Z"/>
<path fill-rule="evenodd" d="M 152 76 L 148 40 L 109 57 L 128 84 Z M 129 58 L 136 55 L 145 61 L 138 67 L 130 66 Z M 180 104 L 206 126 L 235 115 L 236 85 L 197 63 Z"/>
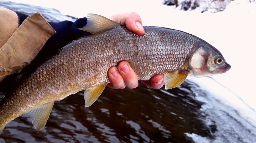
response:
<path fill-rule="evenodd" d="M 144 35 L 145 31 L 142 26 L 142 21 L 136 13 L 117 14 L 109 19 L 125 25 L 128 30 L 137 35 Z M 108 70 L 108 78 L 111 83 L 110 88 L 123 89 L 126 86 L 130 89 L 138 86 L 138 77 L 128 62 L 121 61 L 118 67 L 111 67 Z M 163 75 L 158 74 L 153 76 L 150 81 L 142 81 L 147 87 L 159 89 L 164 85 Z"/>

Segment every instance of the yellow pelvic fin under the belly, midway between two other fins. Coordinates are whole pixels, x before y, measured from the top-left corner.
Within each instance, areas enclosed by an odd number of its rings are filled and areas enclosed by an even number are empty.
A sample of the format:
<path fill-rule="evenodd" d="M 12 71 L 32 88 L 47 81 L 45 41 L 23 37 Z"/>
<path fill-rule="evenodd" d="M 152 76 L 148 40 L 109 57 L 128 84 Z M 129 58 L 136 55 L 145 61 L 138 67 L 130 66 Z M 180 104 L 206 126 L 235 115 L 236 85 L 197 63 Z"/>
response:
<path fill-rule="evenodd" d="M 84 91 L 85 107 L 91 106 L 98 99 L 99 95 L 102 93 L 105 87 L 106 87 L 106 84 L 101 84 L 101 85 L 95 86 L 92 89 L 85 90 Z"/>

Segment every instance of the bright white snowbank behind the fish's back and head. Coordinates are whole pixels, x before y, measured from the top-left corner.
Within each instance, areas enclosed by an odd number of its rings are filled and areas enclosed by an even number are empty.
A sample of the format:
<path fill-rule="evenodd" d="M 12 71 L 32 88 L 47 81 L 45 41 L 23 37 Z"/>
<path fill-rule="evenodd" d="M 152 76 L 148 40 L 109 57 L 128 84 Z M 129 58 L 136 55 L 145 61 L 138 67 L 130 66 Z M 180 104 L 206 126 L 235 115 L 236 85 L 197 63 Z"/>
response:
<path fill-rule="evenodd" d="M 95 13 L 109 17 L 117 13 L 137 12 L 143 25 L 162 26 L 196 35 L 216 47 L 231 65 L 225 74 L 192 79 L 212 91 L 218 101 L 233 108 L 246 121 L 256 126 L 255 54 L 256 54 L 256 2 L 246 0 L 231 2 L 218 13 L 180 11 L 179 7 L 166 6 L 161 0 L 104 1 L 30 1 L 12 0 L 52 7 L 63 14 L 85 17 Z M 253 0 L 251 0 L 253 1 Z M 220 84 L 218 84 L 220 83 Z M 195 135 L 190 135 L 195 136 Z"/>

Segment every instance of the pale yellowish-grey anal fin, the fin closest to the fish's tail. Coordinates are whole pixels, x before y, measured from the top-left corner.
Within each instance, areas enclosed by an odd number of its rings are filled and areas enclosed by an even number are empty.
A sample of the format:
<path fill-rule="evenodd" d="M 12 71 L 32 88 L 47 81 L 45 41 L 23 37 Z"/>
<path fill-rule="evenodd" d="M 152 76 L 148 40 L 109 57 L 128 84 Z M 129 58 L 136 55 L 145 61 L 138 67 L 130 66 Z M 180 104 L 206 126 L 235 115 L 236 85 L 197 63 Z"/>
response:
<path fill-rule="evenodd" d="M 49 102 L 26 113 L 26 115 L 32 120 L 32 124 L 37 131 L 40 131 L 44 128 L 52 111 L 53 104 L 54 102 Z"/>

